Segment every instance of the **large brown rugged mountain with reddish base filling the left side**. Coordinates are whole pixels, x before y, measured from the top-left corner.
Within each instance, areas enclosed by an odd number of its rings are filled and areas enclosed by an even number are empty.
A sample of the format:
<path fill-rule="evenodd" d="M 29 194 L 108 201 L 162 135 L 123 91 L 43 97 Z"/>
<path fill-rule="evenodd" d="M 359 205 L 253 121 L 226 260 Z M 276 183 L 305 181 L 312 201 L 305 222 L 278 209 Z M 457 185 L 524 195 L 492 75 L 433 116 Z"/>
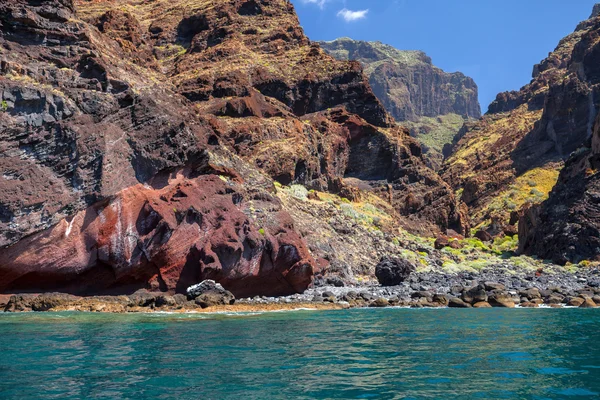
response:
<path fill-rule="evenodd" d="M 287 0 L 7 0 L 0 26 L 0 292 L 302 291 L 333 256 L 273 179 L 466 229 L 360 65 Z"/>

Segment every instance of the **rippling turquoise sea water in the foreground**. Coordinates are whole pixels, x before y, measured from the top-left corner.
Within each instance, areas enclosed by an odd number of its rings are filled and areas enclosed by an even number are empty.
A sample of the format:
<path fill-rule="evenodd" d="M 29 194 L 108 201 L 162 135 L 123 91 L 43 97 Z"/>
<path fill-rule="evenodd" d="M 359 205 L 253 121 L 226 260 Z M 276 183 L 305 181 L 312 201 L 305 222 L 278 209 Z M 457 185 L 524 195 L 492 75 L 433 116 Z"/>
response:
<path fill-rule="evenodd" d="M 599 393 L 600 310 L 0 314 L 0 399 Z"/>

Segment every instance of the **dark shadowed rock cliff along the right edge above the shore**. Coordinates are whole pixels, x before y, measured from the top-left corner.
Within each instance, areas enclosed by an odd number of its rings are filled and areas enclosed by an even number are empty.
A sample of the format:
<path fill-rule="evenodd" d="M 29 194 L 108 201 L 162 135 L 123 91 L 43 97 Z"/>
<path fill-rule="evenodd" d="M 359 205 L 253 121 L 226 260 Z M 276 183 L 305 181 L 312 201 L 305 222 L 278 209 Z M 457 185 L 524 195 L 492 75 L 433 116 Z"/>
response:
<path fill-rule="evenodd" d="M 536 132 L 558 154 L 574 151 L 549 199 L 527 210 L 519 223 L 520 251 L 558 263 L 600 258 L 598 9 L 596 5 L 591 19 L 579 26 L 582 35 L 567 65 L 569 75 L 547 101 L 541 121 L 545 131 Z M 527 144 L 531 148 L 531 142 Z"/>

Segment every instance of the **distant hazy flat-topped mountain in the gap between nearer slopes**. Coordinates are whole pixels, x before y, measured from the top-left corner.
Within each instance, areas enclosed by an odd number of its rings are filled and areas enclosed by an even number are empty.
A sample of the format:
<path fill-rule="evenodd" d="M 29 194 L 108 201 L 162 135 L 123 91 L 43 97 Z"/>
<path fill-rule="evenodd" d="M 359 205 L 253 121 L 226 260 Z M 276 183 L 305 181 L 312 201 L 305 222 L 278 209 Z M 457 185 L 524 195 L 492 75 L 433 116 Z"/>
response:
<path fill-rule="evenodd" d="M 421 142 L 435 169 L 443 160 L 444 145 L 452 142 L 465 121 L 481 116 L 473 79 L 442 71 L 421 51 L 349 38 L 319 44 L 338 60 L 363 65 L 377 98 Z"/>

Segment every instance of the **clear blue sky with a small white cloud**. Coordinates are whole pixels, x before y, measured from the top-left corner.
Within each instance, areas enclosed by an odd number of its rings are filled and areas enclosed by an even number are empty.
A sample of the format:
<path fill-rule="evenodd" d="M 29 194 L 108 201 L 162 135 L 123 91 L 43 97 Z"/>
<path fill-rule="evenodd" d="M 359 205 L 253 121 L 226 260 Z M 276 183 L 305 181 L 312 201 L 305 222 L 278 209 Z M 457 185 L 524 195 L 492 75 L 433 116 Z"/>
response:
<path fill-rule="evenodd" d="M 531 80 L 600 0 L 292 0 L 311 40 L 351 37 L 422 50 L 479 86 L 482 111 Z"/>

